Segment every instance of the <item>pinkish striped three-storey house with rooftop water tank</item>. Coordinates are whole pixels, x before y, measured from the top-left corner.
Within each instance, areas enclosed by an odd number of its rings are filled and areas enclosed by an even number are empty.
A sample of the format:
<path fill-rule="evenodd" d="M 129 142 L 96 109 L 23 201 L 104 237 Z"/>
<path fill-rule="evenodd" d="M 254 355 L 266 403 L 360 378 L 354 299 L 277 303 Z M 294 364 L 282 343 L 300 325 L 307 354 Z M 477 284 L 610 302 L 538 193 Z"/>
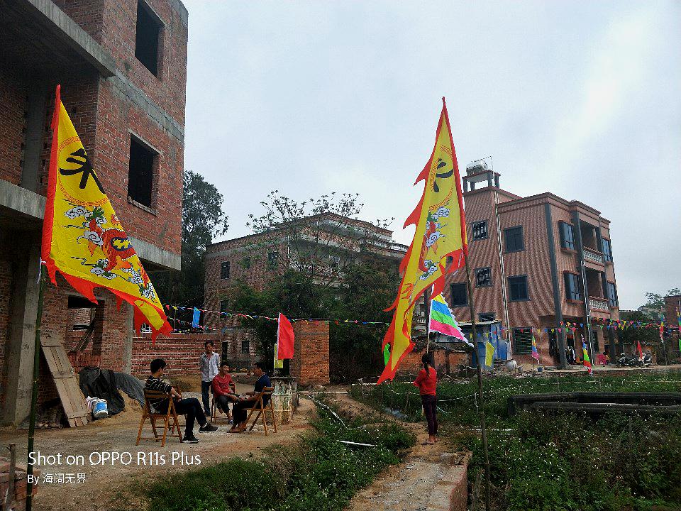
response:
<path fill-rule="evenodd" d="M 546 366 L 565 366 L 570 346 L 578 358 L 582 335 L 593 355 L 614 348 L 611 330 L 592 328 L 619 319 L 610 221 L 549 192 L 506 192 L 482 160 L 467 166 L 463 187 L 476 321 L 506 339 L 512 357 L 524 363 L 531 363 L 530 328 L 541 329 Z M 456 317 L 470 322 L 464 269 L 448 277 L 445 297 Z M 567 322 L 565 334 L 560 326 Z"/>

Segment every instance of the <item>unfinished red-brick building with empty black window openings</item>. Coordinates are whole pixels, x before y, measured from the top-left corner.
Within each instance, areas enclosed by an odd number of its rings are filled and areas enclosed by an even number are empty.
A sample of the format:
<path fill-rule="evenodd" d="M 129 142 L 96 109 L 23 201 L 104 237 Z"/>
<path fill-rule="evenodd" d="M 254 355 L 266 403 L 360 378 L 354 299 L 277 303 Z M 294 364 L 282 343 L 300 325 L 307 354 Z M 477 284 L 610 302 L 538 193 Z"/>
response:
<path fill-rule="evenodd" d="M 31 401 L 40 229 L 55 85 L 149 273 L 179 270 L 187 10 L 179 0 L 0 0 L 0 422 Z M 132 314 L 64 280 L 45 292 L 43 337 L 130 370 Z M 56 397 L 41 362 L 40 400 Z"/>

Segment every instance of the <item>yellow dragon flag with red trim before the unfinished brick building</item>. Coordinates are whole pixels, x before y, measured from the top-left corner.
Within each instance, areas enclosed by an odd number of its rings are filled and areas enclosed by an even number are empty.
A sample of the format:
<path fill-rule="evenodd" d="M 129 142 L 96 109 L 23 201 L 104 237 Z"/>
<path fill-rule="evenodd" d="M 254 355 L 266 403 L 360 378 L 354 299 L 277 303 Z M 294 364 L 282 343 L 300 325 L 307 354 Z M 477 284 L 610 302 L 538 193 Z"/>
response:
<path fill-rule="evenodd" d="M 77 292 L 96 303 L 104 287 L 133 305 L 135 329 L 151 326 L 152 338 L 167 334 L 163 305 L 106 197 L 57 85 L 52 116 L 52 153 L 43 221 L 43 263 L 56 284 L 57 271 Z"/>

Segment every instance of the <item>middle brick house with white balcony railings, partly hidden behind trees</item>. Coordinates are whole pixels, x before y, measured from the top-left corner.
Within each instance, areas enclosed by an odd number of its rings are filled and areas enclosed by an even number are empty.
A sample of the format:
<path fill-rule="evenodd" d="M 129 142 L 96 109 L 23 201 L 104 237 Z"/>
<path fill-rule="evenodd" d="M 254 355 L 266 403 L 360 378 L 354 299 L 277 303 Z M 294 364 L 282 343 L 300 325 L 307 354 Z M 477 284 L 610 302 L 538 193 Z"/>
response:
<path fill-rule="evenodd" d="M 219 243 L 206 249 L 204 306 L 219 312 L 230 310 L 233 283 L 245 282 L 262 290 L 275 275 L 289 268 L 308 273 L 320 285 L 343 282 L 349 265 L 362 260 L 384 260 L 399 264 L 407 247 L 392 241 L 392 231 L 367 221 L 337 214 L 319 214 L 276 229 Z M 388 304 L 387 304 L 388 305 Z M 421 318 L 416 323 L 423 324 Z M 253 332 L 238 321 L 216 322 L 226 334 L 223 353 L 232 360 L 247 359 L 255 353 Z"/>

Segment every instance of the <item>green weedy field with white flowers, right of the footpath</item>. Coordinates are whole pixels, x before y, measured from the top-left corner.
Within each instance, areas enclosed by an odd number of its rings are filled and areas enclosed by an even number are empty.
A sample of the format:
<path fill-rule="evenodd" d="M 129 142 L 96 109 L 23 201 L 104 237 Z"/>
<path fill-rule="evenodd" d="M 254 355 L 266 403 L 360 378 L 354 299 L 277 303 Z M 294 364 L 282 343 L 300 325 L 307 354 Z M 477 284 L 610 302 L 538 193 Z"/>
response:
<path fill-rule="evenodd" d="M 484 406 L 494 508 L 507 511 L 681 509 L 681 415 L 638 417 L 523 412 L 509 417 L 515 394 L 681 391 L 681 375 L 629 378 L 485 378 Z M 421 418 L 409 383 L 353 387 L 353 397 L 408 420 Z M 477 381 L 438 385 L 438 419 L 455 448 L 472 451 L 469 480 L 483 466 Z M 457 427 L 449 427 L 455 425 Z"/>

